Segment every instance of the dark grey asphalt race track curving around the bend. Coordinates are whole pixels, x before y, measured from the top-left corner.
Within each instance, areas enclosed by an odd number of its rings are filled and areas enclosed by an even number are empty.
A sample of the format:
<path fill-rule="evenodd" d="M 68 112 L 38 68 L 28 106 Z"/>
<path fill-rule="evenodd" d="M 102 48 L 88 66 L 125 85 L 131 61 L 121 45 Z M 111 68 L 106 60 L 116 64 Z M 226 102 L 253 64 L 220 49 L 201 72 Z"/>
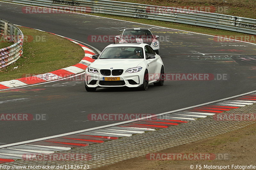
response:
<path fill-rule="evenodd" d="M 0 2 L 0 16 L 13 24 L 66 36 L 99 50 L 112 41 L 91 42 L 92 35 L 111 36 L 117 35 L 119 28 L 148 27 L 160 36 L 165 73 L 225 77 L 211 81 L 165 81 L 164 86 L 151 85 L 148 91 L 116 88 L 85 92 L 84 82 L 78 78 L 0 91 L 1 113 L 45 115 L 44 121 L 0 121 L 0 145 L 114 123 L 89 121 L 89 114 L 157 114 L 255 90 L 253 44 L 218 42 L 208 35 L 83 14 L 23 13 L 22 7 Z"/>

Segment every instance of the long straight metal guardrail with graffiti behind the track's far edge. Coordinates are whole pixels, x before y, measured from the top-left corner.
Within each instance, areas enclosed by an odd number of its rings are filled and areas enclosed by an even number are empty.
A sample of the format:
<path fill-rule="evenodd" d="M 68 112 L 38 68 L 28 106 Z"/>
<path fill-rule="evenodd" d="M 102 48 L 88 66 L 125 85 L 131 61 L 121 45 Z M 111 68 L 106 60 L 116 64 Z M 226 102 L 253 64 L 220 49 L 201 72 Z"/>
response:
<path fill-rule="evenodd" d="M 134 4 L 108 0 L 4 0 L 8 2 L 49 7 L 74 12 L 104 13 L 134 18 L 147 18 L 171 21 L 197 26 L 225 29 L 230 31 L 256 34 L 256 19 L 236 17 L 204 11 L 180 8 Z M 35 8 L 35 7 L 34 7 Z M 29 11 L 30 10 L 30 11 Z M 28 13 L 45 12 L 26 7 Z M 46 11 L 47 12 L 47 11 Z"/>

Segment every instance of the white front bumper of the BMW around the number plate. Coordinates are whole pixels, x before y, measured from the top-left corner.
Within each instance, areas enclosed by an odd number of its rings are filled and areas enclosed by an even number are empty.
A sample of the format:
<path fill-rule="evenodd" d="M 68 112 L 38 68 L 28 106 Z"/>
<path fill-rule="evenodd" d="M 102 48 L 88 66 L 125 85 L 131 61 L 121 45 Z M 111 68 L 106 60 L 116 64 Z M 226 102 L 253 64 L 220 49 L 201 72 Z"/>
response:
<path fill-rule="evenodd" d="M 106 81 L 103 78 L 119 77 L 119 81 Z M 144 72 L 140 70 L 136 73 L 124 72 L 120 76 L 103 76 L 100 73 L 85 72 L 85 83 L 88 87 L 139 87 L 143 83 Z"/>

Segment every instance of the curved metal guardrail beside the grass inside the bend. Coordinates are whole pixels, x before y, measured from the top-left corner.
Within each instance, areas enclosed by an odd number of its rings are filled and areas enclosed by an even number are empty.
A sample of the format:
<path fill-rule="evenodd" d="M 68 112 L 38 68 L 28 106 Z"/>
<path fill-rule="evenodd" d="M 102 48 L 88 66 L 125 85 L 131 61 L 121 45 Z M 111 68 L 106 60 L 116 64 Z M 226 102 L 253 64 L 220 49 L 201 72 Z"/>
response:
<path fill-rule="evenodd" d="M 20 58 L 23 53 L 24 36 L 17 26 L 4 19 L 0 19 L 0 36 L 2 36 L 5 42 L 14 42 L 13 45 L 0 49 L 1 70 Z"/>

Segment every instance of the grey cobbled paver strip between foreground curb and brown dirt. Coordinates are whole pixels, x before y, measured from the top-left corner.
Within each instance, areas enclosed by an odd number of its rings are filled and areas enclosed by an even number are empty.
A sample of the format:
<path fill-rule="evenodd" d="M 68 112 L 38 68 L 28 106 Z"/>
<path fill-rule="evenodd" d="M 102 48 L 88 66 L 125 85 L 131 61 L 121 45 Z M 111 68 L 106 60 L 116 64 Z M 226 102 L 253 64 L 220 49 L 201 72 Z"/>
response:
<path fill-rule="evenodd" d="M 256 104 L 240 107 L 221 114 L 255 114 Z M 255 120 L 255 119 L 254 119 Z M 125 159 L 136 158 L 147 153 L 158 152 L 163 149 L 181 144 L 189 144 L 208 137 L 218 136 L 255 123 L 255 121 L 216 121 L 213 116 L 196 121 L 182 123 L 169 128 L 136 134 L 131 137 L 122 137 L 86 147 L 56 152 L 59 154 L 90 154 L 92 159 L 86 160 L 17 160 L 1 165 L 89 165 L 96 168 L 113 164 Z M 81 167 L 80 167 L 81 168 Z"/>

